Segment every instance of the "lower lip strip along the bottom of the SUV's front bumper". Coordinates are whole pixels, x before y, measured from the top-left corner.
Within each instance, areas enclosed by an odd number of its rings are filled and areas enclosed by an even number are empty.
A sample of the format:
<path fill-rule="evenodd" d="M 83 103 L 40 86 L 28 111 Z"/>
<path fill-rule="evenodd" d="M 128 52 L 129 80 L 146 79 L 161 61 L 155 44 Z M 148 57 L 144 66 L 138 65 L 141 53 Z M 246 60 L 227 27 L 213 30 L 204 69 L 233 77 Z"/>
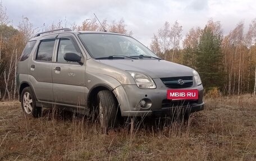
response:
<path fill-rule="evenodd" d="M 166 117 L 171 116 L 175 113 L 193 113 L 202 111 L 204 109 L 204 102 L 201 104 L 192 104 L 190 106 L 184 107 L 170 107 L 170 108 L 161 108 L 161 109 L 152 109 L 149 111 L 125 111 L 124 116 L 154 116 L 154 117 Z"/>

